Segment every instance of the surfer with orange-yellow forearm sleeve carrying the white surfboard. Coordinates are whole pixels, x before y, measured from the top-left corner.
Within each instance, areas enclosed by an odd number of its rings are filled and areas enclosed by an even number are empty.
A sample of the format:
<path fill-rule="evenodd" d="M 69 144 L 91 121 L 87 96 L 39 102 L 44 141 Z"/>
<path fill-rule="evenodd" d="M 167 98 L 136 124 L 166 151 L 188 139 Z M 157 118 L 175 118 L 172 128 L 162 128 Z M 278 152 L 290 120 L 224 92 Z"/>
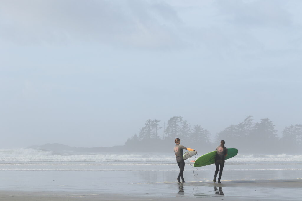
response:
<path fill-rule="evenodd" d="M 184 183 L 185 180 L 184 180 L 183 171 L 184 171 L 184 168 L 185 168 L 185 161 L 183 159 L 184 154 L 182 153 L 182 149 L 189 150 L 189 151 L 195 151 L 195 150 L 180 145 L 180 139 L 179 138 L 176 138 L 174 142 L 176 143 L 176 145 L 174 147 L 174 153 L 175 153 L 175 156 L 176 156 L 176 162 L 177 162 L 178 167 L 179 167 L 179 174 L 178 174 L 178 177 L 176 179 L 177 179 L 178 183 L 180 183 L 179 179 L 180 179 L 180 177 L 182 177 L 182 183 Z M 195 151 L 195 152 L 197 152 L 197 151 Z"/>

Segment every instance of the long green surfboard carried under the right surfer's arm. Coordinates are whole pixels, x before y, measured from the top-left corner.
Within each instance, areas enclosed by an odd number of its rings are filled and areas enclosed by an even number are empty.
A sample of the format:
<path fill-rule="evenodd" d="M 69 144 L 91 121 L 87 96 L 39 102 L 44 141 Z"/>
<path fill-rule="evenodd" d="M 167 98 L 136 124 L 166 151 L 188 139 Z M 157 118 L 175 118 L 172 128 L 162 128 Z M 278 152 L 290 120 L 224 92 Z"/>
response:
<path fill-rule="evenodd" d="M 194 162 L 194 167 L 201 167 L 201 166 L 205 166 L 205 165 L 214 164 L 215 163 L 216 152 L 217 151 L 213 151 L 213 152 L 204 154 L 201 157 L 199 157 Z M 227 156 L 225 157 L 225 160 L 234 157 L 235 155 L 237 155 L 237 153 L 238 153 L 238 149 L 228 148 L 227 149 Z"/>

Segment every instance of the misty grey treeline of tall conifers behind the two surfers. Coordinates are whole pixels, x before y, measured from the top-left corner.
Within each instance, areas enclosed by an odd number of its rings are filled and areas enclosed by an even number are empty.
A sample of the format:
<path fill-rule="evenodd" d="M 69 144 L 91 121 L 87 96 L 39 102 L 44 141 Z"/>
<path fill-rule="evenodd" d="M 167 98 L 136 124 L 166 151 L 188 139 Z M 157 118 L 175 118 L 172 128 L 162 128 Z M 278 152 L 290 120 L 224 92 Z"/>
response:
<path fill-rule="evenodd" d="M 217 133 L 214 142 L 210 141 L 207 129 L 201 125 L 192 126 L 181 116 L 171 117 L 164 127 L 159 127 L 159 122 L 148 119 L 138 134 L 128 138 L 126 149 L 173 151 L 176 137 L 181 139 L 182 145 L 201 152 L 215 149 L 220 140 L 226 141 L 226 147 L 237 148 L 242 153 L 297 153 L 302 145 L 302 124 L 285 127 L 279 139 L 275 125 L 268 118 L 255 122 L 252 116 L 247 116 L 239 124 Z"/>

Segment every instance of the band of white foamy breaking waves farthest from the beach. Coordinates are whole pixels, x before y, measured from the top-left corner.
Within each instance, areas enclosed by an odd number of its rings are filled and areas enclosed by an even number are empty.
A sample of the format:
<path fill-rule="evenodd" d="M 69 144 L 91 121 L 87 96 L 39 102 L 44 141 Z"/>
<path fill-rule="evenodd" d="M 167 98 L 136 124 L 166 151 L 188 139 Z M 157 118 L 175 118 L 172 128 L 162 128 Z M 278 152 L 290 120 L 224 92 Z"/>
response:
<path fill-rule="evenodd" d="M 175 163 L 174 154 L 137 153 L 58 153 L 35 149 L 0 149 L 1 162 L 108 162 L 116 165 L 153 165 Z M 126 162 L 126 163 L 124 163 Z M 227 162 L 302 162 L 302 155 L 238 154 Z M 105 164 L 102 164 L 105 165 Z M 156 164 L 159 165 L 159 164 Z"/>

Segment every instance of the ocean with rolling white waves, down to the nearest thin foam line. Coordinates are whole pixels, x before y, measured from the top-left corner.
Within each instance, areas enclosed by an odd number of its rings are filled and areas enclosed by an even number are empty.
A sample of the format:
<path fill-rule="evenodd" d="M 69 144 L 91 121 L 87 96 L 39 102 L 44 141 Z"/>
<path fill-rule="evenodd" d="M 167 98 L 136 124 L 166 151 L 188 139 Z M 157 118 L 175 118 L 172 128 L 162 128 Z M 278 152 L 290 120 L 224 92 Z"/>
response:
<path fill-rule="evenodd" d="M 190 160 L 194 159 L 195 156 Z M 175 161 L 172 152 L 80 153 L 0 149 L 1 171 L 175 171 L 175 168 L 178 169 Z M 186 161 L 185 169 L 188 171 L 193 170 L 189 162 Z M 235 157 L 226 160 L 225 170 L 301 170 L 301 162 L 302 155 L 238 153 Z M 194 162 L 191 162 L 191 165 L 193 164 Z M 214 168 L 214 165 L 208 165 L 198 169 L 205 171 Z"/>

